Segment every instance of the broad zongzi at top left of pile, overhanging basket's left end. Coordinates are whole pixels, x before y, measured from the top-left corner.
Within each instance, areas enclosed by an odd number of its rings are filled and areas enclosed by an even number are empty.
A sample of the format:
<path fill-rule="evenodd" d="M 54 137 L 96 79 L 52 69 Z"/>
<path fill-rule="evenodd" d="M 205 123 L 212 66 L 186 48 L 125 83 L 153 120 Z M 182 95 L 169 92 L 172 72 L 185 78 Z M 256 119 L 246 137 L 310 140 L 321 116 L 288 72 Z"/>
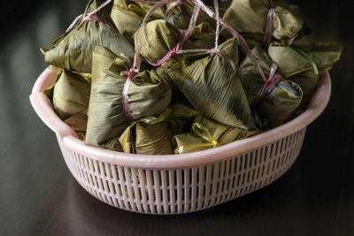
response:
<path fill-rule="evenodd" d="M 86 13 L 98 7 L 96 0 L 91 0 Z M 108 22 L 88 20 L 67 33 L 61 35 L 52 43 L 50 49 L 41 49 L 45 63 L 56 65 L 72 72 L 92 71 L 92 51 L 96 45 L 111 49 L 116 55 L 123 53 L 134 57 L 135 50 L 127 39 L 119 34 L 114 23 L 105 10 L 98 11 L 96 16 Z"/>

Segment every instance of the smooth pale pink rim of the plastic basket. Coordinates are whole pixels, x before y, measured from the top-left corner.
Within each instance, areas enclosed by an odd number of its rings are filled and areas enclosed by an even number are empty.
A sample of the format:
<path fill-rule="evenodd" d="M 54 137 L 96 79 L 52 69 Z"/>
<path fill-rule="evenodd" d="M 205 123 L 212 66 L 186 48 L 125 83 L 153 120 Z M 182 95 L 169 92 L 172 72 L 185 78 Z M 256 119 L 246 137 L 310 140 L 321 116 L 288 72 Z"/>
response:
<path fill-rule="evenodd" d="M 88 146 L 85 145 L 84 141 L 79 140 L 73 129 L 58 118 L 48 98 L 43 94 L 46 88 L 54 85 L 56 78 L 57 72 L 50 72 L 49 68 L 45 69 L 35 81 L 30 102 L 42 121 L 57 134 L 58 141 L 62 141 L 65 148 L 82 156 L 89 156 L 96 161 L 144 169 L 175 169 L 209 164 L 266 146 L 273 141 L 281 140 L 292 133 L 296 133 L 312 123 L 325 110 L 331 95 L 330 75 L 325 72 L 320 76 L 318 88 L 312 95 L 312 100 L 306 110 L 297 118 L 282 126 L 241 141 L 204 151 L 179 155 L 138 155 Z"/>

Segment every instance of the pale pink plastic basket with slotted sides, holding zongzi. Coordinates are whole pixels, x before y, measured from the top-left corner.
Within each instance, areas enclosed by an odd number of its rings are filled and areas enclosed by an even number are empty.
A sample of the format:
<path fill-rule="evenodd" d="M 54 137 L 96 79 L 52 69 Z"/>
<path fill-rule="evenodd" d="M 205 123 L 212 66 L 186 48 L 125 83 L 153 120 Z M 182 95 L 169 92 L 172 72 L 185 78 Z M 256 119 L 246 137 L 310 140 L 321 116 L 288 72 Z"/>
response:
<path fill-rule="evenodd" d="M 145 156 L 90 147 L 52 110 L 42 91 L 56 80 L 49 69 L 35 82 L 30 101 L 57 134 L 65 164 L 90 194 L 119 209 L 179 214 L 210 208 L 266 187 L 295 162 L 308 126 L 326 108 L 328 73 L 299 117 L 265 133 L 201 152 Z"/>

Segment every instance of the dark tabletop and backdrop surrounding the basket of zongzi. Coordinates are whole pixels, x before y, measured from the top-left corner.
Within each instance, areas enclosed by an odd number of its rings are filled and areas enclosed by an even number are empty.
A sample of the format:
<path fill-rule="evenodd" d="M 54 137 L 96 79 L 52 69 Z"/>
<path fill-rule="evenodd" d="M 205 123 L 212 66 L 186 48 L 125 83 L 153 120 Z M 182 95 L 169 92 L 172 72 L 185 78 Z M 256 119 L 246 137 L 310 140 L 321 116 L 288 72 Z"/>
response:
<path fill-rule="evenodd" d="M 307 130 L 296 164 L 256 193 L 180 216 L 115 209 L 83 190 L 28 95 L 46 67 L 40 47 L 85 0 L 8 1 L 0 14 L 0 235 L 354 235 L 354 4 L 293 1 L 312 40 L 343 42 L 327 110 Z"/>

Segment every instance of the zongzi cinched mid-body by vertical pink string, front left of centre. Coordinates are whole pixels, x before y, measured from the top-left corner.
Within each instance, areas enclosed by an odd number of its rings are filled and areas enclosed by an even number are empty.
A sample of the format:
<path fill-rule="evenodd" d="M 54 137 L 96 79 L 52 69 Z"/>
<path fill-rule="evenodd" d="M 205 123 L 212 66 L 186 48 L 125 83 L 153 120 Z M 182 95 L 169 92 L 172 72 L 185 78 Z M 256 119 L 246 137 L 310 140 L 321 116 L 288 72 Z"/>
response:
<path fill-rule="evenodd" d="M 131 67 L 132 58 L 117 57 L 109 49 L 96 47 L 93 54 L 87 144 L 98 146 L 120 135 L 129 125 L 122 102 L 127 77 L 120 75 L 120 72 Z M 138 73 L 127 94 L 134 119 L 156 115 L 171 101 L 171 89 L 153 70 Z"/>

